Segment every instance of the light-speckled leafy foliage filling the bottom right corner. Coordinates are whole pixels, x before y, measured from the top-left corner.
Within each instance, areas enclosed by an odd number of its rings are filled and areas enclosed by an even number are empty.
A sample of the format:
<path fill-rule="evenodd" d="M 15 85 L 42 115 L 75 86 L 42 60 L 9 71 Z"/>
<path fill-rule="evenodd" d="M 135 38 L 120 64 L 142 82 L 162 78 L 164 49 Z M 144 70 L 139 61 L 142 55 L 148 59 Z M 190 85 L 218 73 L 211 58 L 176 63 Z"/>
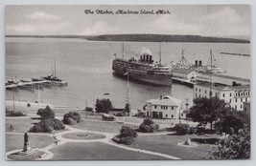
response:
<path fill-rule="evenodd" d="M 248 159 L 250 158 L 250 129 L 244 127 L 237 134 L 222 139 L 213 159 Z"/>

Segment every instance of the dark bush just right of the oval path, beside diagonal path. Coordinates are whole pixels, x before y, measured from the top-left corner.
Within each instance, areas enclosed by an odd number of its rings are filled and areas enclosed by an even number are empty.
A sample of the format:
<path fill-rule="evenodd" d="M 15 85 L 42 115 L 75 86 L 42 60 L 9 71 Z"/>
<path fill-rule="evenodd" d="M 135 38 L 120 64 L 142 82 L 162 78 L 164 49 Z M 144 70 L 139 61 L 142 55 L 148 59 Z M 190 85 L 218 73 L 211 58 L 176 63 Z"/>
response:
<path fill-rule="evenodd" d="M 112 140 L 117 143 L 130 145 L 134 141 L 134 137 L 136 136 L 137 133 L 134 129 L 128 126 L 122 126 L 120 130 L 120 135 L 113 137 Z"/>

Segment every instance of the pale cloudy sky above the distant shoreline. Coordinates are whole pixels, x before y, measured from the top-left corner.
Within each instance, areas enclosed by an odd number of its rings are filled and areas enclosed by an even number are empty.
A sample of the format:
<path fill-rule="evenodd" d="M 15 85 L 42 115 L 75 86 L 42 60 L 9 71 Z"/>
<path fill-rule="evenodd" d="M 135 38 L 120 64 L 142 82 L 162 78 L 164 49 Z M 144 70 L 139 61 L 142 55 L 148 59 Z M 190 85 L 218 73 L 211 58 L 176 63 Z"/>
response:
<path fill-rule="evenodd" d="M 85 14 L 84 10 L 169 10 L 168 14 Z M 248 5 L 6 6 L 7 35 L 122 33 L 250 36 Z"/>

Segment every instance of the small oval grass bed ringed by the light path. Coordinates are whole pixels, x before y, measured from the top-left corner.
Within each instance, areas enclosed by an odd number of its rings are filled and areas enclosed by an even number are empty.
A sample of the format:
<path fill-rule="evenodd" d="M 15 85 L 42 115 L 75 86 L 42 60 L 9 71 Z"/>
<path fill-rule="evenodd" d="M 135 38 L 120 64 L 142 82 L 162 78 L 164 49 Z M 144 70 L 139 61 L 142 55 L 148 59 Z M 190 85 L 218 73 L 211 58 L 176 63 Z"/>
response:
<path fill-rule="evenodd" d="M 105 135 L 87 133 L 87 132 L 78 132 L 78 133 L 71 133 L 62 135 L 62 137 L 70 138 L 70 139 L 101 139 L 105 138 Z"/>

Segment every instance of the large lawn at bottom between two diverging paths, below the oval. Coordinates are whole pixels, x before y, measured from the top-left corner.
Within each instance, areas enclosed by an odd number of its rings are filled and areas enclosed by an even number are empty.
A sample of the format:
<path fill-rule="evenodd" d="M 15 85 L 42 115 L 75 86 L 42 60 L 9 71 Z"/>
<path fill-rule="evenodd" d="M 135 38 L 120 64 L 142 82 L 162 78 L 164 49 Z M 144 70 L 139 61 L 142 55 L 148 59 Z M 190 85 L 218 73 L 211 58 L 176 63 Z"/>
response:
<path fill-rule="evenodd" d="M 124 150 L 101 142 L 66 143 L 52 149 L 51 151 L 54 153 L 52 160 L 167 159 L 161 156 L 151 156 Z"/>

